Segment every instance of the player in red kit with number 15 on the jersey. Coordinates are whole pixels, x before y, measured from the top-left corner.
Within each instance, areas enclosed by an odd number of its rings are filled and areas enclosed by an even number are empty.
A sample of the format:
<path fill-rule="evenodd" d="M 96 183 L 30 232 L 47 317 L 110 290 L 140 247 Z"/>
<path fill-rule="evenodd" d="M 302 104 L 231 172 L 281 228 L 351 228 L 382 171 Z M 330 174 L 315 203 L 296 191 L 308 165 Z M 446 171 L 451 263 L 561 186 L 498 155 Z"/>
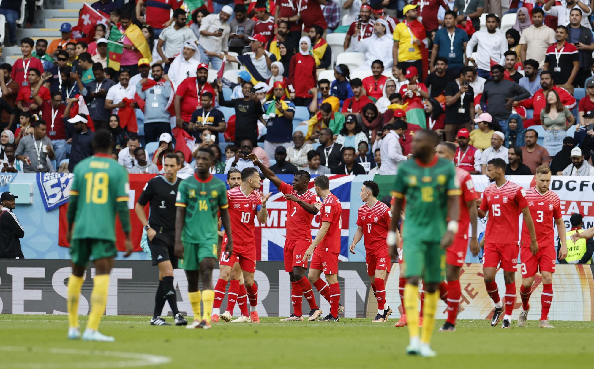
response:
<path fill-rule="evenodd" d="M 483 274 L 486 292 L 495 303 L 495 311 L 491 319 L 491 326 L 497 325 L 503 313 L 503 303 L 499 297 L 495 274 L 501 263 L 505 281 L 505 316 L 501 328 L 511 327 L 511 313 L 516 303 L 516 272 L 517 257 L 520 252 L 518 241 L 518 219 L 520 212 L 524 215 L 524 223 L 529 231 L 530 252 L 536 255 L 538 244 L 534 223 L 526 200 L 526 191 L 505 179 L 505 161 L 492 159 L 486 165 L 486 175 L 494 181 L 483 192 L 481 205 L 478 209 L 479 218 L 484 218 L 489 212 L 489 221 L 485 231 L 485 251 L 483 254 Z"/>

